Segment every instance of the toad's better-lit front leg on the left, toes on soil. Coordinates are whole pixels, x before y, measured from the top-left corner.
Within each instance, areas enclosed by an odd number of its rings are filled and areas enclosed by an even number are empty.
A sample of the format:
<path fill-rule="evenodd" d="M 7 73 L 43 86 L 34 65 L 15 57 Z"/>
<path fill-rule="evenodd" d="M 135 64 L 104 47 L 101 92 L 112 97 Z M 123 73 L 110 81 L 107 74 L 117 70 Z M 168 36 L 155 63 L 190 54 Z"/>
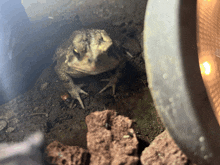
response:
<path fill-rule="evenodd" d="M 88 93 L 86 93 L 84 90 L 82 90 L 80 88 L 80 86 L 74 84 L 72 78 L 67 73 L 65 73 L 62 69 L 60 69 L 60 67 L 55 66 L 54 69 L 55 69 L 59 79 L 61 81 L 63 81 L 63 84 L 64 84 L 65 88 L 67 89 L 67 91 L 69 92 L 69 94 L 71 95 L 71 97 L 73 99 L 77 99 L 79 101 L 81 107 L 83 109 L 85 109 L 79 94 L 83 93 L 83 94 L 88 95 Z"/>

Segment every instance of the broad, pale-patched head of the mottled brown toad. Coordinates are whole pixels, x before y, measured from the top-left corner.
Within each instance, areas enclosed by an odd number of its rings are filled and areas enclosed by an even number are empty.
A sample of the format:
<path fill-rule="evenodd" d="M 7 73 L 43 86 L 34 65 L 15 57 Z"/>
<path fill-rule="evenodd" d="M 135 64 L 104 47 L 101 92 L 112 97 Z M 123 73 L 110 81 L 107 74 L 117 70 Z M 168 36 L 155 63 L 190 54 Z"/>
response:
<path fill-rule="evenodd" d="M 91 75 L 114 69 L 119 60 L 112 39 L 105 30 L 74 31 L 69 41 L 65 63 L 77 71 Z"/>

